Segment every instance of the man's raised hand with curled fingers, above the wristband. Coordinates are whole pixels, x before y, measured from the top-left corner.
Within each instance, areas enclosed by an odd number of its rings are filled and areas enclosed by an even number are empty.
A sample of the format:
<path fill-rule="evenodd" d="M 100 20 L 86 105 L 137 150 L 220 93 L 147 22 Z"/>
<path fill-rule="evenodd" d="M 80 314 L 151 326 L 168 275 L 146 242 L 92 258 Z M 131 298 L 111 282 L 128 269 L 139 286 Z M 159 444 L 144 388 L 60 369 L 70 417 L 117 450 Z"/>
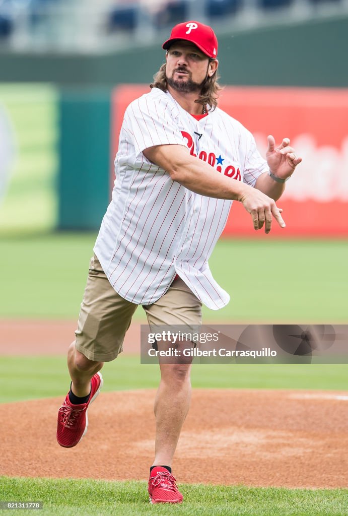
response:
<path fill-rule="evenodd" d="M 290 147 L 289 138 L 284 138 L 279 147 L 275 148 L 272 135 L 268 136 L 266 159 L 271 172 L 280 179 L 287 179 L 302 162 L 302 158 L 296 156 L 294 149 Z"/>

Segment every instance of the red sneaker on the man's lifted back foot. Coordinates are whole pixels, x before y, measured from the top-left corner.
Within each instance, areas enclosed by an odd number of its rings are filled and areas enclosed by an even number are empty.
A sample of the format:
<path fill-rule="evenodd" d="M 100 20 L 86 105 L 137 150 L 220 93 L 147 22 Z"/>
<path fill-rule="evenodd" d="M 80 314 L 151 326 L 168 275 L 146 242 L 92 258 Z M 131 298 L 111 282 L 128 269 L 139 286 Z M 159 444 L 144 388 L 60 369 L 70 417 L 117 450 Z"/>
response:
<path fill-rule="evenodd" d="M 64 448 L 76 446 L 84 437 L 88 427 L 87 409 L 95 400 L 103 386 L 101 373 L 96 373 L 91 379 L 91 395 L 87 403 L 73 405 L 69 394 L 58 410 L 57 441 Z"/>

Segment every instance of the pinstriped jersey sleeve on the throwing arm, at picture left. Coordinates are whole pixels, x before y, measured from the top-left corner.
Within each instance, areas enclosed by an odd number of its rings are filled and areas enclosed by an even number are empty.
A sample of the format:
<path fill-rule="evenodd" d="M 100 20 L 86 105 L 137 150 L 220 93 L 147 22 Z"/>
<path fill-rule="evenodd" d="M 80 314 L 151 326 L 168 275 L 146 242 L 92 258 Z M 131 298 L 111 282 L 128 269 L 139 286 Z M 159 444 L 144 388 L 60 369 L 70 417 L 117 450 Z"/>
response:
<path fill-rule="evenodd" d="M 139 155 L 155 145 L 176 144 L 186 147 L 175 123 L 176 109 L 166 98 L 143 95 L 126 109 L 124 127 Z"/>

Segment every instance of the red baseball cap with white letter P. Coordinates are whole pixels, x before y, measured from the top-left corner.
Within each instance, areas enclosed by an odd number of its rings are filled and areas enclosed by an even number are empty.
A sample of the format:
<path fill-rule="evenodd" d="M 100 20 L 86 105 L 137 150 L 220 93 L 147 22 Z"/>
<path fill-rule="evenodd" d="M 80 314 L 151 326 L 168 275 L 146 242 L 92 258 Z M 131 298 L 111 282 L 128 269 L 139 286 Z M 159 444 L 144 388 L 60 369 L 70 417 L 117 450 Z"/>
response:
<path fill-rule="evenodd" d="M 170 38 L 164 41 L 162 49 L 168 50 L 170 45 L 178 39 L 191 41 L 211 59 L 218 57 L 218 38 L 208 25 L 195 21 L 175 25 Z"/>

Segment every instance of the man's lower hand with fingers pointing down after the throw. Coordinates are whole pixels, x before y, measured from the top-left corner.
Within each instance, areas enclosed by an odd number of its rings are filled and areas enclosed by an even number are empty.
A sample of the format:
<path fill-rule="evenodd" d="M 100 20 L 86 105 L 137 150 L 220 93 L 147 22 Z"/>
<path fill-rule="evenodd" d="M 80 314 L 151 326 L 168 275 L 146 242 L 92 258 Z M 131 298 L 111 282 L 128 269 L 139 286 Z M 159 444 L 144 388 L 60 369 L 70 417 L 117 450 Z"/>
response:
<path fill-rule="evenodd" d="M 273 217 L 280 225 L 280 228 L 285 228 L 285 222 L 281 218 L 282 209 L 278 208 L 275 201 L 262 193 L 256 188 L 247 189 L 241 196 L 239 201 L 253 218 L 255 231 L 262 228 L 264 224 L 264 232 L 271 231 Z"/>

